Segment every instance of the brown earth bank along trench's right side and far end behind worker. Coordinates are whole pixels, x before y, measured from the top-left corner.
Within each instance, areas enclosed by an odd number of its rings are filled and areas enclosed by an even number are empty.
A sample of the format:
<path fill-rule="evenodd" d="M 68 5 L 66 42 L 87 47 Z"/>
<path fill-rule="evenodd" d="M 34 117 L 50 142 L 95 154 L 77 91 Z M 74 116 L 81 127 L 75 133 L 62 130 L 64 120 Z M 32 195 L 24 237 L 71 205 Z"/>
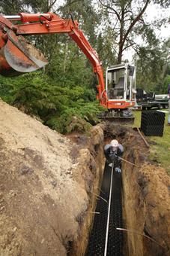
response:
<path fill-rule="evenodd" d="M 106 142 L 124 145 L 122 161 L 125 255 L 170 255 L 170 177 L 148 163 L 148 148 L 139 133 L 123 126 L 106 126 Z"/>

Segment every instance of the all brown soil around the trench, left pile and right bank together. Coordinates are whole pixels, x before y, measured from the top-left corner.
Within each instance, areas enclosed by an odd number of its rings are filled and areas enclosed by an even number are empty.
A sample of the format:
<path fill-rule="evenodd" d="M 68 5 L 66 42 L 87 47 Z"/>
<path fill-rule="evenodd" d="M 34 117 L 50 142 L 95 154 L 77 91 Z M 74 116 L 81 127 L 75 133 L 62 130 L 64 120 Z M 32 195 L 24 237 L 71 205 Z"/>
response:
<path fill-rule="evenodd" d="M 0 255 L 85 254 L 106 142 L 124 145 L 125 255 L 170 255 L 170 177 L 126 126 L 67 138 L 0 101 Z M 145 236 L 143 236 L 145 235 Z M 147 237 L 146 237 L 147 236 Z"/>

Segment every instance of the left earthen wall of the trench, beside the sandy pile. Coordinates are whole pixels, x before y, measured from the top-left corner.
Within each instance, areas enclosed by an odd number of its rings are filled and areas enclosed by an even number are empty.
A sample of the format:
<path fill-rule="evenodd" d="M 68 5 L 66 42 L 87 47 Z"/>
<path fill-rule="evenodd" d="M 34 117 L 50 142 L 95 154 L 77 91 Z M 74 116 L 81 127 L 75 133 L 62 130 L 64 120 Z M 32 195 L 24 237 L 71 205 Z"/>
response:
<path fill-rule="evenodd" d="M 76 139 L 77 140 L 77 139 Z M 81 138 L 80 138 L 81 140 Z M 75 138 L 74 138 L 75 142 Z M 71 256 L 85 255 L 85 250 L 88 245 L 88 236 L 91 231 L 91 224 L 93 223 L 94 213 L 97 204 L 97 195 L 100 194 L 100 184 L 103 178 L 103 171 L 105 166 L 105 157 L 103 154 L 104 136 L 103 129 L 100 125 L 94 126 L 91 129 L 91 136 L 88 140 L 80 144 L 80 157 L 77 159 L 79 162 L 79 175 L 76 175 L 76 181 L 85 181 L 85 190 L 88 194 L 88 209 L 82 212 L 79 216 L 79 236 L 71 245 Z"/>

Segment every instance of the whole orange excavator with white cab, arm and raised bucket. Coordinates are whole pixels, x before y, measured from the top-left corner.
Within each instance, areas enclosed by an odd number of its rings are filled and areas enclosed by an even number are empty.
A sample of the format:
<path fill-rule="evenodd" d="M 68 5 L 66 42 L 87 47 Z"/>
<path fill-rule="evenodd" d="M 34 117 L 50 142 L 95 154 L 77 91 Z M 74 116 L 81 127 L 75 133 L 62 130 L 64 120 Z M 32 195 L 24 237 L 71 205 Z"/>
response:
<path fill-rule="evenodd" d="M 54 33 L 67 33 L 91 62 L 98 81 L 97 99 L 106 108 L 100 117 L 111 121 L 133 121 L 130 108 L 135 105 L 134 66 L 125 62 L 108 67 L 105 84 L 102 62 L 71 14 L 69 19 L 62 19 L 52 13 L 19 13 L 10 16 L 0 14 L 0 74 L 15 76 L 46 66 L 48 61 L 43 53 L 30 44 L 25 36 Z"/>

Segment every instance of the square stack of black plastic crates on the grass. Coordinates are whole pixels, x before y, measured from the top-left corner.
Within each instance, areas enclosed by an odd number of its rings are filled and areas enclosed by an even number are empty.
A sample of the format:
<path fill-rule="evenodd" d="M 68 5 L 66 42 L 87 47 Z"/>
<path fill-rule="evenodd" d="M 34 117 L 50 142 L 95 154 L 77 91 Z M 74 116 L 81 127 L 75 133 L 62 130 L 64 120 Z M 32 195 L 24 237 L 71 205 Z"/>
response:
<path fill-rule="evenodd" d="M 141 130 L 145 136 L 163 136 L 165 113 L 142 111 Z"/>

